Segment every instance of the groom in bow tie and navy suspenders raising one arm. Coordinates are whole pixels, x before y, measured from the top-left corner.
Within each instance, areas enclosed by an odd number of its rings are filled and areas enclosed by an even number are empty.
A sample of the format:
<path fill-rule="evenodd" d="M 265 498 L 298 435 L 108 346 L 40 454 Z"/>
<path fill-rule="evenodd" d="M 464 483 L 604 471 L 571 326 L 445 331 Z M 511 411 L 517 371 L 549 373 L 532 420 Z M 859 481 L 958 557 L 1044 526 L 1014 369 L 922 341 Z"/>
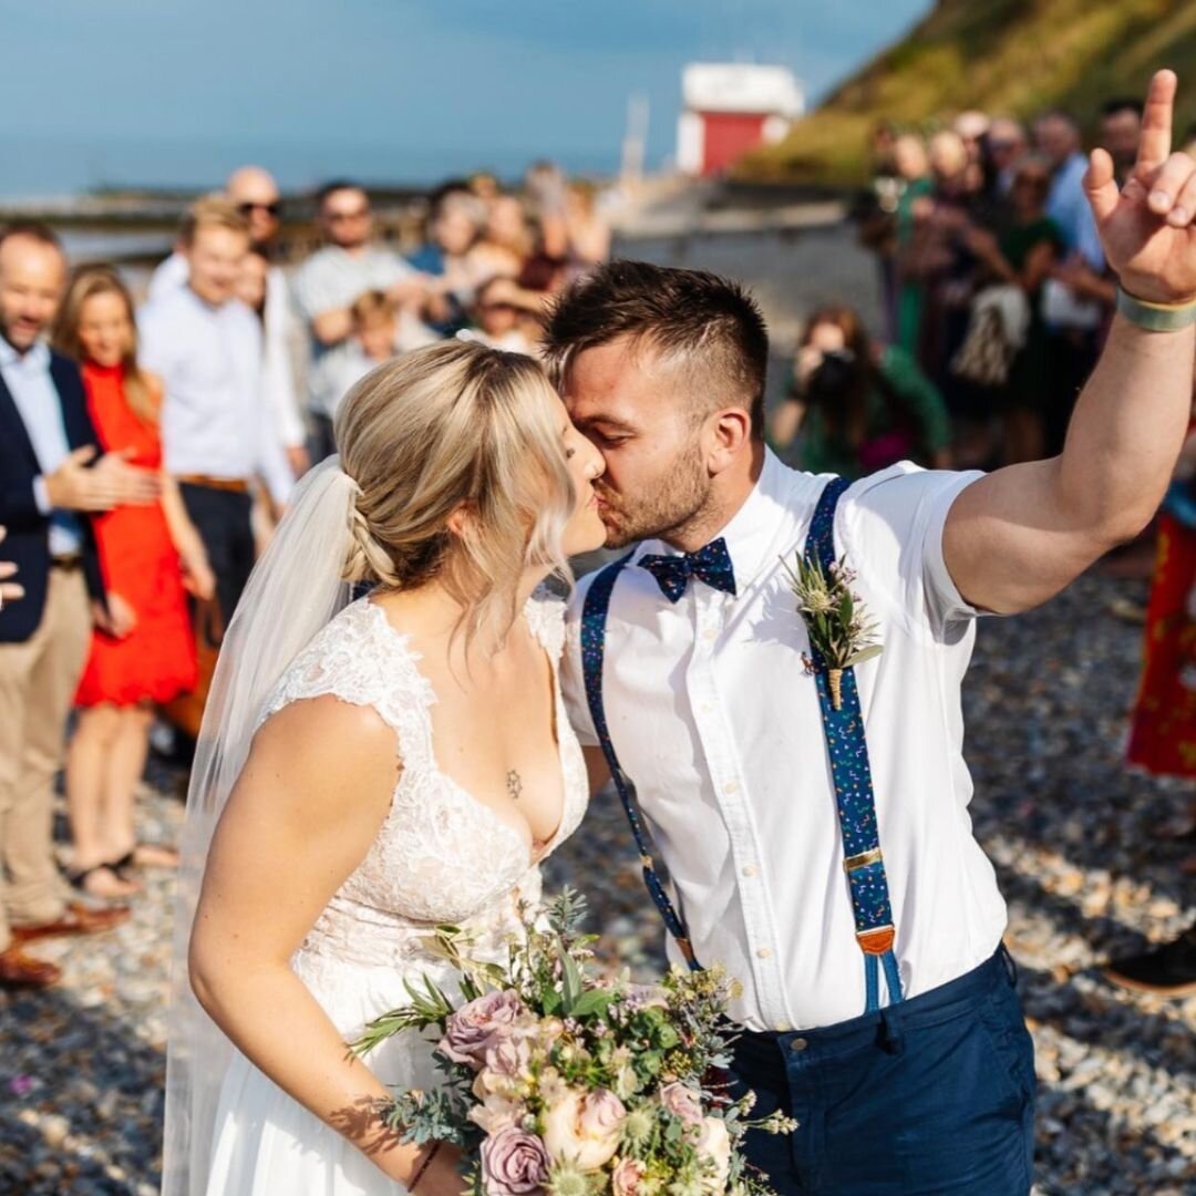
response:
<path fill-rule="evenodd" d="M 734 1078 L 799 1122 L 751 1142 L 782 1194 L 1031 1186 L 1033 1051 L 971 834 L 959 691 L 976 616 L 1045 602 L 1135 536 L 1178 456 L 1196 164 L 1171 153 L 1174 90 L 1153 80 L 1123 190 L 1093 155 L 1123 289 L 1052 460 L 850 488 L 785 468 L 759 311 L 709 274 L 615 262 L 551 317 L 548 360 L 606 460 L 608 547 L 629 549 L 578 587 L 570 713 L 594 783 L 615 773 L 673 958 L 743 983 Z M 782 568 L 800 554 L 846 557 L 878 624 L 841 702 Z"/>

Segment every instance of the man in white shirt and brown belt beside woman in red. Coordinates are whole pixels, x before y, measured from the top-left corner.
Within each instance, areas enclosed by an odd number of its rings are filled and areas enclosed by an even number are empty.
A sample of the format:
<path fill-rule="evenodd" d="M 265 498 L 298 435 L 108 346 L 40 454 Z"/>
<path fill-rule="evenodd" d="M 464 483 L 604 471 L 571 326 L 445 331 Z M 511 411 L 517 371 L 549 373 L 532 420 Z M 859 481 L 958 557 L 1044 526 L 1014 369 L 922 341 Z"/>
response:
<path fill-rule="evenodd" d="M 227 621 L 254 567 L 250 483 L 261 477 L 282 507 L 294 477 L 262 393 L 261 324 L 234 298 L 248 221 L 209 196 L 187 214 L 182 245 L 187 286 L 142 307 L 141 361 L 165 383 L 165 465 L 203 539 Z"/>

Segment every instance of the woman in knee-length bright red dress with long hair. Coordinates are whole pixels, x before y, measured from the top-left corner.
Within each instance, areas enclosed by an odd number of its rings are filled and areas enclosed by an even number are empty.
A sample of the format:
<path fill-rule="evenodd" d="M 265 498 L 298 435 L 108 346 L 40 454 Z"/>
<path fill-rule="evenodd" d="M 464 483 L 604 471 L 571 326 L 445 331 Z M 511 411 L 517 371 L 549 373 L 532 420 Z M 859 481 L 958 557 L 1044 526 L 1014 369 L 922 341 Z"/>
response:
<path fill-rule="evenodd" d="M 138 367 L 133 301 L 114 270 L 90 267 L 72 280 L 55 331 L 83 365 L 87 409 L 104 452 L 161 468 L 161 384 Z M 99 897 L 140 886 L 136 865 L 170 866 L 172 848 L 139 844 L 134 795 L 145 770 L 154 703 L 194 688 L 195 640 L 187 593 L 210 597 L 207 555 L 173 482 L 161 500 L 117 507 L 94 521 L 112 631 L 98 628 L 75 704 L 67 752 L 67 807 L 74 844 L 68 879 Z"/>

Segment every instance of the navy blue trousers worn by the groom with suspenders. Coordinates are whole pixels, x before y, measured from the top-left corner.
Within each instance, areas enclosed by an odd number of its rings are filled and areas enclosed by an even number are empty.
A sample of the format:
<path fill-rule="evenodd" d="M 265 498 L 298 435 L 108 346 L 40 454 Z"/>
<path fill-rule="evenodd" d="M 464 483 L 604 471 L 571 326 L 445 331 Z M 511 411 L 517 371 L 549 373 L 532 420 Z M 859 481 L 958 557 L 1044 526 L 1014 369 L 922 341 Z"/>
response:
<path fill-rule="evenodd" d="M 929 993 L 852 1021 L 745 1033 L 732 1088 L 751 1116 L 782 1110 L 792 1136 L 752 1131 L 749 1160 L 780 1196 L 1026 1196 L 1033 1043 L 1005 948 Z"/>

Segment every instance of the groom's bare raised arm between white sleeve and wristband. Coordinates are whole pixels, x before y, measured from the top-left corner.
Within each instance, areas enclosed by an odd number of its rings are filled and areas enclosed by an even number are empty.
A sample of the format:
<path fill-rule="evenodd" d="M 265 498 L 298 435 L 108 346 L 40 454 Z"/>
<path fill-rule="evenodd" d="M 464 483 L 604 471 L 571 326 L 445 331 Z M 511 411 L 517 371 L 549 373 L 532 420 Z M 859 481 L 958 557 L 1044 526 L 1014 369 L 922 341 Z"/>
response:
<path fill-rule="evenodd" d="M 964 489 L 942 551 L 963 597 L 1012 615 L 1054 597 L 1149 523 L 1191 411 L 1196 334 L 1117 317 L 1084 388 L 1063 453 Z"/>

